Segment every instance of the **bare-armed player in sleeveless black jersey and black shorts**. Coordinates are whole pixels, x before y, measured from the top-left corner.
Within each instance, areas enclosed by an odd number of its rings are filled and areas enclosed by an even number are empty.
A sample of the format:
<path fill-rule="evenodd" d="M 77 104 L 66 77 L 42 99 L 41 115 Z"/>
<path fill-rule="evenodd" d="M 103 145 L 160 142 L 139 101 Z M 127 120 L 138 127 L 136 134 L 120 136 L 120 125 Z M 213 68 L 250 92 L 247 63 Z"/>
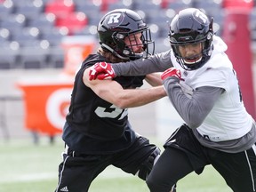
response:
<path fill-rule="evenodd" d="M 127 108 L 166 96 L 160 76 L 89 80 L 88 68 L 95 63 L 104 68 L 105 62 L 137 60 L 153 54 L 149 51 L 149 44 L 154 48 L 154 42 L 148 26 L 138 13 L 118 9 L 103 16 L 98 35 L 98 52 L 89 55 L 76 73 L 55 192 L 88 191 L 92 180 L 111 164 L 146 180 L 160 154 L 156 145 L 132 130 L 127 114 Z M 154 86 L 136 89 L 144 79 Z"/>

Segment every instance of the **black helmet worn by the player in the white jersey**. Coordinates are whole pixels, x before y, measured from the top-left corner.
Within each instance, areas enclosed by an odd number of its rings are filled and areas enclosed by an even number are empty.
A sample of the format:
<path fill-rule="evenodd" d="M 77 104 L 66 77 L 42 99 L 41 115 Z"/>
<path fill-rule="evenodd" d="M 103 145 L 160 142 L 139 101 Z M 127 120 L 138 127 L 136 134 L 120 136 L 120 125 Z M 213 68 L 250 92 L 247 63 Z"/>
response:
<path fill-rule="evenodd" d="M 180 66 L 186 70 L 195 70 L 201 68 L 212 54 L 212 22 L 209 18 L 196 8 L 188 8 L 180 11 L 172 20 L 169 31 L 172 50 Z M 186 63 L 179 52 L 180 45 L 202 44 L 202 57 L 193 63 Z M 200 54 L 201 55 L 201 54 Z M 198 55 L 193 56 L 194 58 Z"/>

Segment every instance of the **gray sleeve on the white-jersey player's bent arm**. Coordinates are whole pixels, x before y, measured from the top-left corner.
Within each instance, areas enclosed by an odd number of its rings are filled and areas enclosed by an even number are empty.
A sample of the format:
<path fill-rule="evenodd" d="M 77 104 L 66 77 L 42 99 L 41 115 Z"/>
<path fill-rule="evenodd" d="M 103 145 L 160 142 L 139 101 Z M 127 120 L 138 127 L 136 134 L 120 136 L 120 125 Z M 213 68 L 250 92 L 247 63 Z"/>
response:
<path fill-rule="evenodd" d="M 191 129 L 197 128 L 212 110 L 224 89 L 220 87 L 202 86 L 193 92 L 186 92 L 179 84 L 179 79 L 169 77 L 164 81 L 173 107 Z M 189 96 L 188 96 L 189 94 Z"/>

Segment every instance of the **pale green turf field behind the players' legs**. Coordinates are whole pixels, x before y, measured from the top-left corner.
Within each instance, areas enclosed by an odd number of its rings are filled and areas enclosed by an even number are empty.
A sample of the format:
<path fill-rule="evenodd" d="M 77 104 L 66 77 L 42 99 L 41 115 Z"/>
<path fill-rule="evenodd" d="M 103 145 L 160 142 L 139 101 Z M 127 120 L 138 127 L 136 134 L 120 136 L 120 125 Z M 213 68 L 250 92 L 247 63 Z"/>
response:
<path fill-rule="evenodd" d="M 46 139 L 38 145 L 29 139 L 0 141 L 0 192 L 54 191 L 63 143 L 57 138 L 55 144 L 50 145 Z M 211 166 L 200 176 L 191 173 L 178 185 L 179 192 L 231 192 Z M 94 180 L 90 191 L 142 192 L 148 188 L 144 181 L 110 166 Z"/>

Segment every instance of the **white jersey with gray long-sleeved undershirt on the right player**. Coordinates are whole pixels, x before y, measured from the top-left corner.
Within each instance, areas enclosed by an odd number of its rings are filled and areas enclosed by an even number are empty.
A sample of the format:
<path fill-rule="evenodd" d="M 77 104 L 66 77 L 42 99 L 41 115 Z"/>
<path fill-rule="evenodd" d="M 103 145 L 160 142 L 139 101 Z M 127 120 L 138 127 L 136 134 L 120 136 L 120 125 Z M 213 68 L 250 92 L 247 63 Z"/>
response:
<path fill-rule="evenodd" d="M 256 142 L 255 123 L 244 108 L 236 71 L 225 53 L 227 45 L 218 36 L 213 37 L 213 45 L 211 59 L 192 71 L 180 67 L 172 50 L 112 66 L 117 76 L 179 68 L 184 81 L 174 77 L 164 81 L 173 107 L 202 145 L 235 153 Z"/>

